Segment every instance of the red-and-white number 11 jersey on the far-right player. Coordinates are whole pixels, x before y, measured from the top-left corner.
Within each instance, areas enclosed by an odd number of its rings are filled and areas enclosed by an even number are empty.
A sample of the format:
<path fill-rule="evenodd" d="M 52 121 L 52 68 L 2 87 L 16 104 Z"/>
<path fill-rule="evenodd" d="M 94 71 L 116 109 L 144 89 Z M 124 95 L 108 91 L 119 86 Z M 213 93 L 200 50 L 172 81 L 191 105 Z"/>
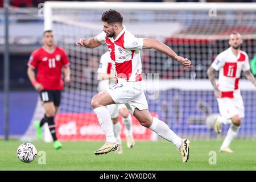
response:
<path fill-rule="evenodd" d="M 246 52 L 240 51 L 236 57 L 231 47 L 217 55 L 212 67 L 219 71 L 218 89 L 229 92 L 239 89 L 241 72 L 250 69 L 249 58 Z"/>

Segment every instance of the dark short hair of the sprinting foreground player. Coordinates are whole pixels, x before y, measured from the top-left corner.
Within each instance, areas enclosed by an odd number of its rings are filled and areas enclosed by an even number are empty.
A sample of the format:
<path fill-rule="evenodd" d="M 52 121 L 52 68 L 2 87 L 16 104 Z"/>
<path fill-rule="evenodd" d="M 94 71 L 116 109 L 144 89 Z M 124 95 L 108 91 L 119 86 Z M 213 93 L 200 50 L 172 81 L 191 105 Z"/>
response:
<path fill-rule="evenodd" d="M 119 13 L 117 10 L 108 10 L 105 11 L 101 16 L 102 22 L 107 22 L 108 24 L 112 23 L 123 23 L 123 15 Z"/>

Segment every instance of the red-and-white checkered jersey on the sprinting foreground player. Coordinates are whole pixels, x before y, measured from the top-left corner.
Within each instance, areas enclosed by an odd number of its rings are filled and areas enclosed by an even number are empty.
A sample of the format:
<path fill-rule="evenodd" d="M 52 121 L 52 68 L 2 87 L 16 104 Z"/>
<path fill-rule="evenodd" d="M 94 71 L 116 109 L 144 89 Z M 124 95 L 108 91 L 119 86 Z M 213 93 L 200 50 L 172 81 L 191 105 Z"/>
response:
<path fill-rule="evenodd" d="M 106 43 L 109 48 L 112 67 L 115 76 L 126 78 L 127 81 L 141 81 L 142 63 L 139 50 L 143 47 L 143 39 L 135 38 L 133 34 L 123 30 L 118 34 L 117 38 L 108 38 L 103 31 L 97 35 L 100 43 Z"/>

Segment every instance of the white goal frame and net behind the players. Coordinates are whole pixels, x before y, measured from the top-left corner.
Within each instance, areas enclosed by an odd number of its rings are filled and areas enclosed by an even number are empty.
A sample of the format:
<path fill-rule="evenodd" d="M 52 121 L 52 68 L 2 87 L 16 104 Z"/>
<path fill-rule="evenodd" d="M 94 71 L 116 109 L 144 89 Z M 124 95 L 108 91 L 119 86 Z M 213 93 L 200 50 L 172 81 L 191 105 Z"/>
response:
<path fill-rule="evenodd" d="M 255 3 L 230 6 L 227 3 L 46 2 L 44 28 L 53 30 L 56 44 L 67 51 L 71 61 L 72 81 L 65 86 L 55 119 L 58 137 L 61 140 L 104 139 L 90 100 L 97 93 L 100 57 L 108 49 L 106 45 L 94 49 L 76 46 L 76 40 L 99 34 L 101 15 L 109 9 L 119 10 L 127 30 L 138 38 L 160 40 L 178 55 L 188 57 L 194 65 L 184 70 L 176 61 L 154 49 L 141 51 L 150 112 L 178 135 L 193 139 L 216 138 L 212 123 L 214 114 L 219 111 L 207 79 L 207 68 L 218 53 L 229 47 L 228 38 L 233 31 L 242 35 L 242 50 L 248 53 L 249 59 L 254 56 Z M 242 75 L 240 88 L 245 118 L 238 137 L 255 137 L 255 86 Z M 42 110 L 35 109 L 34 118 L 40 115 L 39 111 Z M 222 136 L 228 128 L 224 126 Z M 123 131 L 122 138 L 125 138 Z M 133 132 L 137 140 L 154 137 L 135 118 Z"/>

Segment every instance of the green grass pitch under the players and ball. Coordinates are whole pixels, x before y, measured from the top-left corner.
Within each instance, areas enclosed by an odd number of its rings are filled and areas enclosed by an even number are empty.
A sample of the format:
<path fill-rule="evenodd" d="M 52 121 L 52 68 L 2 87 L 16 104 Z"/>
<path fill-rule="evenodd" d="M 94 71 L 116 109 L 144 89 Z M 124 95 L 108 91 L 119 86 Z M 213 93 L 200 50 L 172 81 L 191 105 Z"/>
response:
<path fill-rule="evenodd" d="M 191 140 L 190 158 L 182 163 L 174 145 L 166 142 L 136 142 L 127 148 L 123 141 L 123 154 L 110 152 L 94 155 L 104 142 L 63 142 L 61 150 L 52 143 L 31 142 L 39 151 L 46 152 L 46 164 L 40 157 L 23 163 L 16 156 L 19 140 L 0 140 L 0 170 L 85 170 L 85 171 L 169 171 L 169 170 L 256 170 L 255 140 L 234 140 L 230 146 L 233 154 L 219 152 L 222 140 Z M 216 164 L 209 164 L 216 152 Z M 212 155 L 213 154 L 213 155 Z M 42 160 L 42 158 L 41 158 Z"/>

